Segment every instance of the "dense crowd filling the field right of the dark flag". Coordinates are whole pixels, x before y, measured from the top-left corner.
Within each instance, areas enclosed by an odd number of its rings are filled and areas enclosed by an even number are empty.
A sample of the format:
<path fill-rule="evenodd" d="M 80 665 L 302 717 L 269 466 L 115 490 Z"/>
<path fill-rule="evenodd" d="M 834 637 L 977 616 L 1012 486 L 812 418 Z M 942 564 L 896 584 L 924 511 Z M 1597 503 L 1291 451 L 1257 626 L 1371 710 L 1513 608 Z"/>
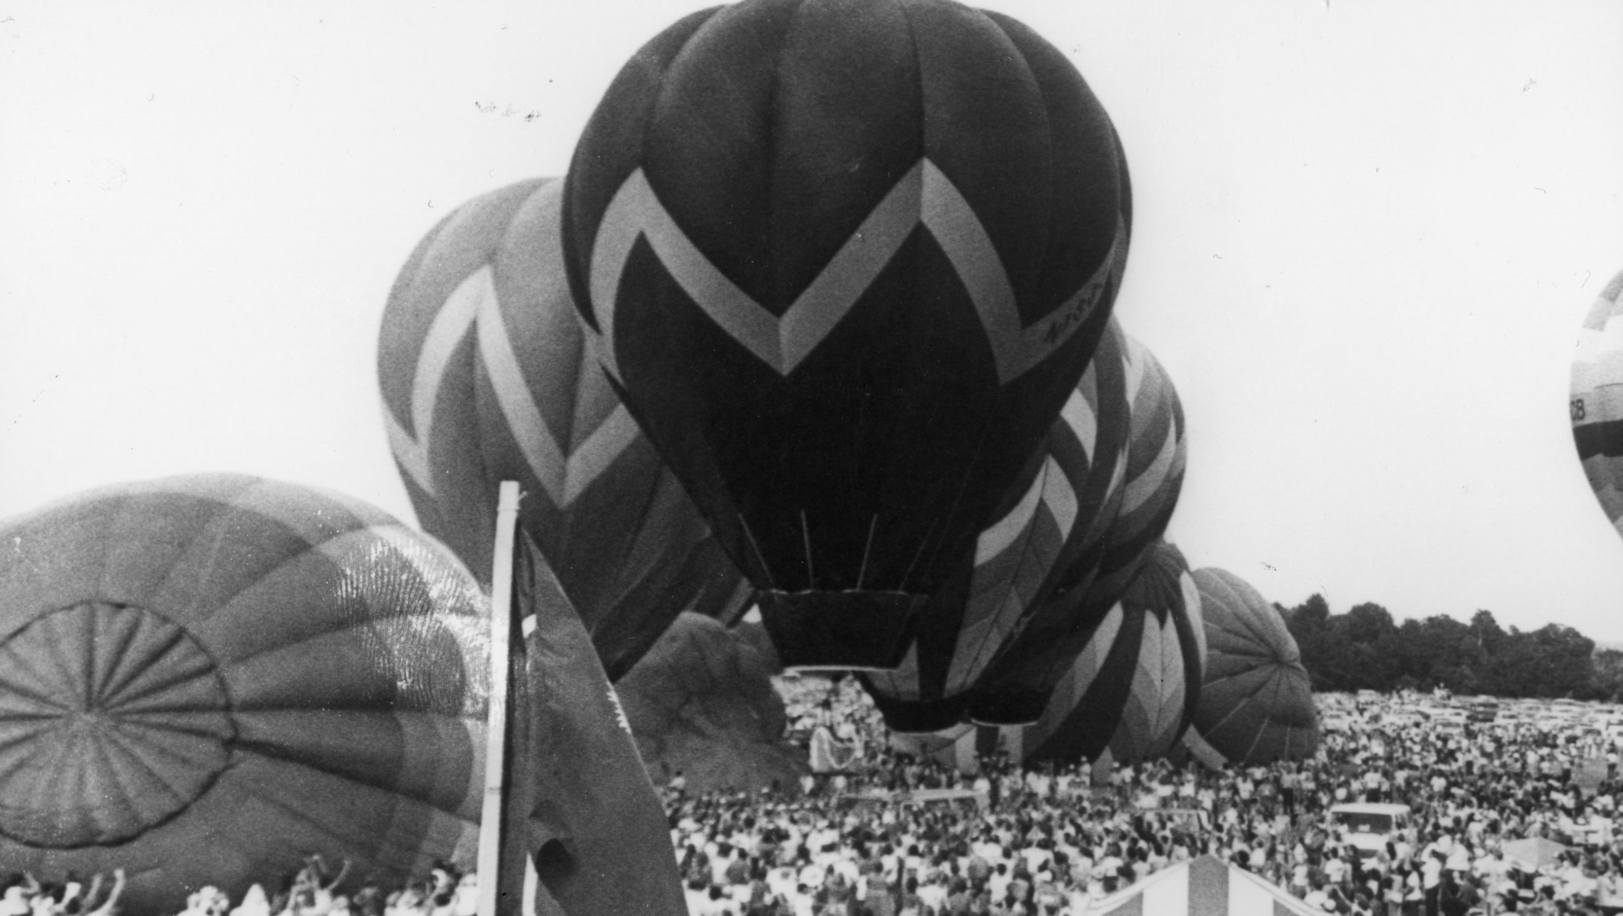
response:
<path fill-rule="evenodd" d="M 1160 760 L 1096 780 L 1086 763 L 992 757 L 962 775 L 889 750 L 847 681 L 810 718 L 855 728 L 867 750 L 852 773 L 808 793 L 690 794 L 678 781 L 665 801 L 695 916 L 1083 916 L 1201 854 L 1329 913 L 1623 911 L 1607 739 L 1532 724 L 1441 731 L 1365 711 L 1300 762 L 1214 771 Z M 1605 760 L 1608 776 L 1586 793 L 1576 775 L 1592 760 Z M 868 801 L 920 788 L 975 797 Z M 1399 802 L 1412 815 L 1360 854 L 1331 815 L 1344 802 Z M 1526 838 L 1550 840 L 1548 861 L 1506 849 Z"/>

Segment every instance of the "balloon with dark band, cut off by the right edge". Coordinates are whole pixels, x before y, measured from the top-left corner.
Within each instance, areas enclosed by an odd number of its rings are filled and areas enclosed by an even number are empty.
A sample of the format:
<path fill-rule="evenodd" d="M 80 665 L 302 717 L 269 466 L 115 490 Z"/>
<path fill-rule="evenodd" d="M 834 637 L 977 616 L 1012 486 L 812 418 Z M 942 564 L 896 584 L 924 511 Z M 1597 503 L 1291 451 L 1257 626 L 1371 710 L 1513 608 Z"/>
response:
<path fill-rule="evenodd" d="M 1568 409 L 1578 460 L 1602 512 L 1623 534 L 1623 271 L 1595 297 L 1573 354 Z"/>

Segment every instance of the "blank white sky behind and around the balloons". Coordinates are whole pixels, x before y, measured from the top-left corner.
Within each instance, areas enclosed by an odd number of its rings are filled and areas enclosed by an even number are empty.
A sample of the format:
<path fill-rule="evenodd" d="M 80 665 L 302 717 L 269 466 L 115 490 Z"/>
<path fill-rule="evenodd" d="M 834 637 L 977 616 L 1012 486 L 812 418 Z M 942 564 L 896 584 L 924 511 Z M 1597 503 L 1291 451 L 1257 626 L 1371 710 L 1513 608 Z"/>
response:
<path fill-rule="evenodd" d="M 1623 268 L 1623 3 L 988 5 L 1123 136 L 1117 313 L 1183 396 L 1191 564 L 1623 640 L 1566 419 Z M 693 8 L 0 0 L 0 515 L 219 469 L 411 518 L 373 377 L 394 271 L 560 174 Z"/>

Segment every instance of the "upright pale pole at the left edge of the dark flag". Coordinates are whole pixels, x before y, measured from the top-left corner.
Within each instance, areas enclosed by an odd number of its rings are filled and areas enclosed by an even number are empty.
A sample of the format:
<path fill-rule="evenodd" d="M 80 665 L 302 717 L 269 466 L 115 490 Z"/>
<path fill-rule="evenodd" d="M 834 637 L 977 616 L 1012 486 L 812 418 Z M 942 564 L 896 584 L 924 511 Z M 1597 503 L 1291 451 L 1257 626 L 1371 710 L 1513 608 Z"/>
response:
<path fill-rule="evenodd" d="M 479 916 L 497 916 L 502 888 L 502 809 L 508 710 L 513 703 L 513 531 L 518 482 L 502 481 L 497 497 L 495 557 L 490 572 L 490 708 L 485 718 L 485 797 L 479 815 Z"/>

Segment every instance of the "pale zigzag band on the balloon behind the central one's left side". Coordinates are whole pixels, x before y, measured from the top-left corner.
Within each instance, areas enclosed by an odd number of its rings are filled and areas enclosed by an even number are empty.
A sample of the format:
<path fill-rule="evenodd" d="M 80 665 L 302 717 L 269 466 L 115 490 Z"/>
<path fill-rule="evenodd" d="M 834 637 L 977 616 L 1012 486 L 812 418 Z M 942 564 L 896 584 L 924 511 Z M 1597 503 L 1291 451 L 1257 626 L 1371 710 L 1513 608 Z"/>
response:
<path fill-rule="evenodd" d="M 440 385 L 450 369 L 456 348 L 469 331 L 477 331 L 479 356 L 497 393 L 497 404 L 524 455 L 524 463 L 547 492 L 547 499 L 560 508 L 570 507 L 639 435 L 639 427 L 625 404 L 615 409 L 586 437 L 573 453 L 565 456 L 552 430 L 529 396 L 524 370 L 502 320 L 502 304 L 497 297 L 490 265 L 467 274 L 451 291 L 440 313 L 435 315 L 417 356 L 412 377 L 412 429 L 407 432 L 385 409 L 385 426 L 394 460 L 411 476 L 412 482 L 433 495 L 433 476 L 428 468 L 428 443 L 433 432 L 435 401 Z"/>

